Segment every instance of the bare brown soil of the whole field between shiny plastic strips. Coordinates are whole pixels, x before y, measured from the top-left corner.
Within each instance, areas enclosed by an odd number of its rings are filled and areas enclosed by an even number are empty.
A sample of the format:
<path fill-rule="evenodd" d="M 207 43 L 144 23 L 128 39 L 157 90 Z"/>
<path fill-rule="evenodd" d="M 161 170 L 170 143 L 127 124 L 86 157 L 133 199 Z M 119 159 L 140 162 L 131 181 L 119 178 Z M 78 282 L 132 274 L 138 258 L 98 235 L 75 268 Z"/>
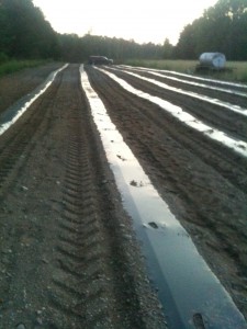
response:
<path fill-rule="evenodd" d="M 0 114 L 58 67 L 2 77 Z M 150 183 L 247 318 L 246 86 L 202 87 L 194 77 L 126 66 L 85 69 Z M 211 129 L 202 134 L 111 75 Z M 211 138 L 214 129 L 240 140 L 238 149 Z M 127 163 L 121 149 L 117 159 Z M 111 168 L 79 65 L 69 65 L 0 136 L 0 328 L 176 328 Z M 195 311 L 184 328 L 213 320 L 204 316 Z M 227 316 L 224 328 L 234 328 Z"/>

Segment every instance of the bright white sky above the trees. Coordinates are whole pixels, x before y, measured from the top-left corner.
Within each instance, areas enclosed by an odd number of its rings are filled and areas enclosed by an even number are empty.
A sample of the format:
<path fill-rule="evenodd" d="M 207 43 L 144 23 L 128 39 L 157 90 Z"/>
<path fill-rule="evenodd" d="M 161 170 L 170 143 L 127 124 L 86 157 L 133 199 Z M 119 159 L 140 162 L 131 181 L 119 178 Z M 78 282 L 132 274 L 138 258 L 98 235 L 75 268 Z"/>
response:
<path fill-rule="evenodd" d="M 183 27 L 217 0 L 33 0 L 58 33 L 176 45 Z"/>

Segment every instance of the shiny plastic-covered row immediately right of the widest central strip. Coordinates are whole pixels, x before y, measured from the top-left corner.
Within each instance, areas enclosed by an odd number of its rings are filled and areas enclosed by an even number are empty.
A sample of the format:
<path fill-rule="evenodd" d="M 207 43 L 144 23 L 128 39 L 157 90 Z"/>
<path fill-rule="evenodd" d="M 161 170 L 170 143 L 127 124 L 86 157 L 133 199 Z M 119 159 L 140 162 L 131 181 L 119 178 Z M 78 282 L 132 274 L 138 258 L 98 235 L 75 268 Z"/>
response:
<path fill-rule="evenodd" d="M 187 124 L 188 126 L 201 132 L 202 134 L 206 135 L 211 139 L 214 139 L 216 141 L 223 144 L 224 146 L 232 148 L 237 154 L 239 154 L 244 157 L 247 157 L 247 143 L 246 141 L 229 137 L 225 133 L 204 124 L 203 122 L 199 121 L 191 114 L 183 111 L 180 106 L 173 105 L 172 103 L 170 103 L 168 101 L 165 101 L 157 97 L 145 93 L 142 90 L 135 89 L 130 83 L 127 83 L 126 81 L 124 81 L 121 78 L 117 78 L 115 75 L 110 73 L 109 71 L 105 71 L 105 70 L 99 69 L 99 68 L 97 68 L 97 69 L 104 72 L 105 75 L 108 75 L 110 78 L 112 78 L 114 81 L 116 81 L 125 90 L 159 105 L 161 109 L 164 109 L 165 111 L 168 111 L 175 117 L 177 117 L 179 121 Z M 137 75 L 135 75 L 135 76 L 137 76 Z M 139 77 L 139 76 L 137 76 L 137 77 Z"/>

